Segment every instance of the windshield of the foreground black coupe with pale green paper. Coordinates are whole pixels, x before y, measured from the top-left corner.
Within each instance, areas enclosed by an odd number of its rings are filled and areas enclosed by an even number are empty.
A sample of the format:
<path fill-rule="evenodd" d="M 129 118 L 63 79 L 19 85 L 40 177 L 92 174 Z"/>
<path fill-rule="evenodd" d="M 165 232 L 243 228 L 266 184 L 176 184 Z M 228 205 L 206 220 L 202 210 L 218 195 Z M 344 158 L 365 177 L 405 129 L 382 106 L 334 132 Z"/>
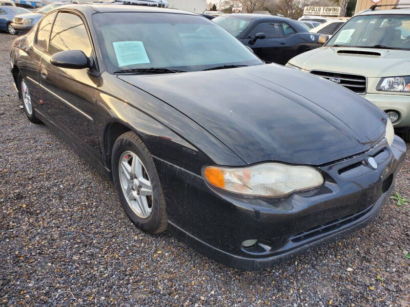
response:
<path fill-rule="evenodd" d="M 198 15 L 98 13 L 98 43 L 109 72 L 172 68 L 199 71 L 263 62 L 235 37 Z"/>

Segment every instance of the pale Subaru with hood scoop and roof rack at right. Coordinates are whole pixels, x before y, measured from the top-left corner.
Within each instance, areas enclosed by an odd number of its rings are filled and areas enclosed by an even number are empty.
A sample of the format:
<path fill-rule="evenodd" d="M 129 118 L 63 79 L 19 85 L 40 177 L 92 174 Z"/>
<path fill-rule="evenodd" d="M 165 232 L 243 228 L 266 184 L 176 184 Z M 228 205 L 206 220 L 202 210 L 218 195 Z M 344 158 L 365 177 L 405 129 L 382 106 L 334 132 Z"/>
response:
<path fill-rule="evenodd" d="M 329 79 L 381 108 L 410 141 L 410 9 L 367 10 L 286 66 Z"/>

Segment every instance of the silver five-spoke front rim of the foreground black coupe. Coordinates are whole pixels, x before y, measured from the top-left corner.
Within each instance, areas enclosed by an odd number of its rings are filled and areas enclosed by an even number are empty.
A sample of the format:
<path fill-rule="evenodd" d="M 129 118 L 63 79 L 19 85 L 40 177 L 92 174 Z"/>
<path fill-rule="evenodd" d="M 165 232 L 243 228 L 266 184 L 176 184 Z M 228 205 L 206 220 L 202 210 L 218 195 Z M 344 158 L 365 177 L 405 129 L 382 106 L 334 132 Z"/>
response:
<path fill-rule="evenodd" d="M 125 151 L 119 158 L 119 182 L 132 211 L 141 218 L 152 213 L 152 185 L 147 170 L 134 152 Z"/>

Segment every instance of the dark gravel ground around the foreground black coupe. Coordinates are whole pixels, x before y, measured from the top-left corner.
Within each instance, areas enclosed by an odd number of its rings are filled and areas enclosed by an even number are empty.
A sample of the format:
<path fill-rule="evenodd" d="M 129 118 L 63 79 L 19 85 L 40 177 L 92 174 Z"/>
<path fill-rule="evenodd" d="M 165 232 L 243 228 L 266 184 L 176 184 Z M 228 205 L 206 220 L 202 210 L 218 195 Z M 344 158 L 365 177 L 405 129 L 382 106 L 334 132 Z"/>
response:
<path fill-rule="evenodd" d="M 261 272 L 210 260 L 128 220 L 114 186 L 30 123 L 0 34 L 0 303 L 118 306 L 409 306 L 410 206 L 389 200 L 350 237 Z M 410 163 L 396 191 L 410 198 Z"/>

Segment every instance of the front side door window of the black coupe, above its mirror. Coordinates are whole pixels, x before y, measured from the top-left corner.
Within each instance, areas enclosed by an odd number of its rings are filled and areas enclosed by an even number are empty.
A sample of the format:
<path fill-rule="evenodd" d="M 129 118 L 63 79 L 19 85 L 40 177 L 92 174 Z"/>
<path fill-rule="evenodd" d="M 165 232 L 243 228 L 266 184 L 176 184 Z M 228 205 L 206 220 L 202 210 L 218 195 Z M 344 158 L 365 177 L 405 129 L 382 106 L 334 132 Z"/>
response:
<path fill-rule="evenodd" d="M 83 20 L 71 13 L 58 13 L 51 32 L 49 52 L 81 50 L 91 56 L 92 47 Z"/>

